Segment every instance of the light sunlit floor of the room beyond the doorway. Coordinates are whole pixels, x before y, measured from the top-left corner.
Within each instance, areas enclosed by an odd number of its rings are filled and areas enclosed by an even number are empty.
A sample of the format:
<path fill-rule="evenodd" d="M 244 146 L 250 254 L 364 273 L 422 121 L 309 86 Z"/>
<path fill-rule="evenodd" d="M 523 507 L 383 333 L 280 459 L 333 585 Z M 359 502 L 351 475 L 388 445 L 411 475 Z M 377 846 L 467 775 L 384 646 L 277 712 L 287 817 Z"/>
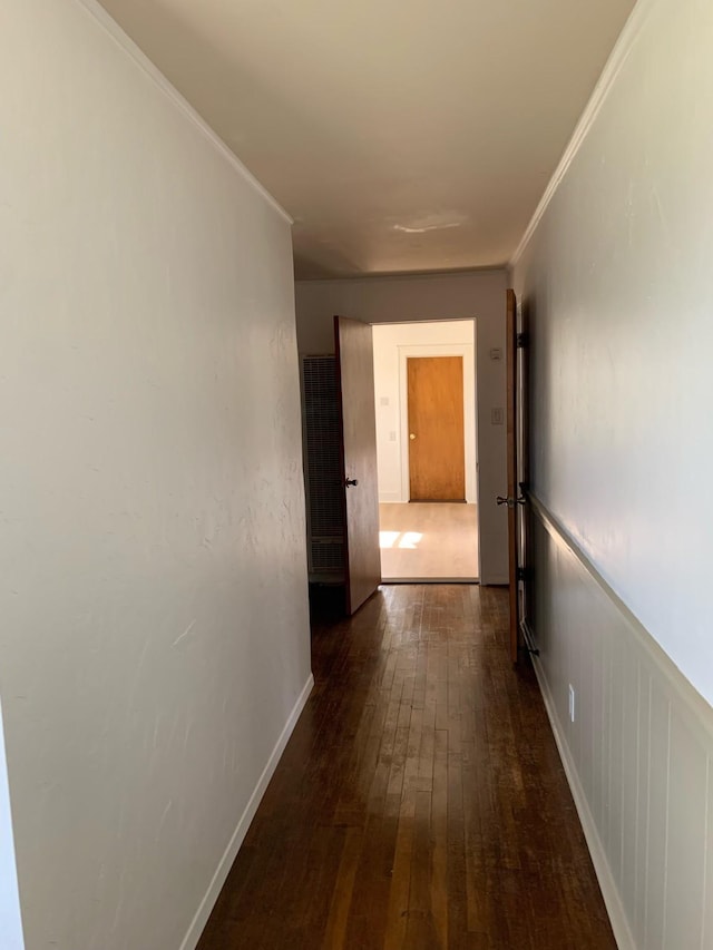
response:
<path fill-rule="evenodd" d="M 384 581 L 478 579 L 476 505 L 388 502 L 379 521 Z"/>

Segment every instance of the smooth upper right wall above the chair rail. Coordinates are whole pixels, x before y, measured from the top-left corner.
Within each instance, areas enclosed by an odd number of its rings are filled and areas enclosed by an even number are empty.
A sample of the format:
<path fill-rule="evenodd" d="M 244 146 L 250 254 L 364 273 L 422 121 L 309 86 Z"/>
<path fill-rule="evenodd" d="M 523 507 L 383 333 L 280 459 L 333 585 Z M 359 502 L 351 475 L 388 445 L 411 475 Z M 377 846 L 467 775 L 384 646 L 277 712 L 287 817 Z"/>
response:
<path fill-rule="evenodd" d="M 642 0 L 515 283 L 536 493 L 713 701 L 713 4 Z"/>

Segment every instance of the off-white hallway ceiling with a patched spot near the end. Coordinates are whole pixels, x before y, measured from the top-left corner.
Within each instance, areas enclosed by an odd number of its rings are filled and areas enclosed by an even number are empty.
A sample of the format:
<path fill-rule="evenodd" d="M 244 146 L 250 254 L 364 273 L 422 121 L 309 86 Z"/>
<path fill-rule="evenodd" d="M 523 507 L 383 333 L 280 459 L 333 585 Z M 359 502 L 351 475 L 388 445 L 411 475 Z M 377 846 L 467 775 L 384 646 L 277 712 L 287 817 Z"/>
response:
<path fill-rule="evenodd" d="M 101 0 L 294 217 L 297 277 L 504 265 L 634 0 Z"/>

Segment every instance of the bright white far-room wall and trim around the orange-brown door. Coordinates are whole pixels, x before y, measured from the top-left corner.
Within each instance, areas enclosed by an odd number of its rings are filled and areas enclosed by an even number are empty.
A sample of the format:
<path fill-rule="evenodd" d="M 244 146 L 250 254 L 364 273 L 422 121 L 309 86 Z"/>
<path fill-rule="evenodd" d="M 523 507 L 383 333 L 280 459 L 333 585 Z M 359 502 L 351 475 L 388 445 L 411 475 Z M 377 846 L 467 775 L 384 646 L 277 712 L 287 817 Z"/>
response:
<path fill-rule="evenodd" d="M 379 500 L 409 501 L 408 385 L 410 356 L 461 356 L 466 501 L 477 500 L 475 323 L 393 323 L 373 327 Z"/>

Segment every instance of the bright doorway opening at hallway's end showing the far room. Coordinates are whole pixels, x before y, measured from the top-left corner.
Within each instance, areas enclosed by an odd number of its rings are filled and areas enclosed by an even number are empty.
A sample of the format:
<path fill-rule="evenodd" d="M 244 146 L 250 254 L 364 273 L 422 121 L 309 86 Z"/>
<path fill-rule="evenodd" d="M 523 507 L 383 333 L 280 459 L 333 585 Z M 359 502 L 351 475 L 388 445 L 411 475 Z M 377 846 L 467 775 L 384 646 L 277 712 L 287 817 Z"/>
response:
<path fill-rule="evenodd" d="M 373 343 L 383 579 L 475 582 L 479 577 L 475 321 L 377 324 Z M 423 489 L 422 481 L 420 487 L 418 479 L 412 481 L 414 443 L 426 434 L 422 418 L 413 415 L 412 405 L 410 411 L 409 376 L 413 383 L 414 366 L 417 374 L 426 369 L 429 376 L 420 396 L 430 414 L 441 401 L 436 391 L 448 389 L 440 418 L 437 413 L 428 420 L 446 441 L 428 449 L 427 472 L 433 464 L 438 470 L 441 457 L 456 443 L 455 456 L 462 459 L 460 484 L 438 482 Z M 432 370 L 440 382 L 433 383 Z"/>

